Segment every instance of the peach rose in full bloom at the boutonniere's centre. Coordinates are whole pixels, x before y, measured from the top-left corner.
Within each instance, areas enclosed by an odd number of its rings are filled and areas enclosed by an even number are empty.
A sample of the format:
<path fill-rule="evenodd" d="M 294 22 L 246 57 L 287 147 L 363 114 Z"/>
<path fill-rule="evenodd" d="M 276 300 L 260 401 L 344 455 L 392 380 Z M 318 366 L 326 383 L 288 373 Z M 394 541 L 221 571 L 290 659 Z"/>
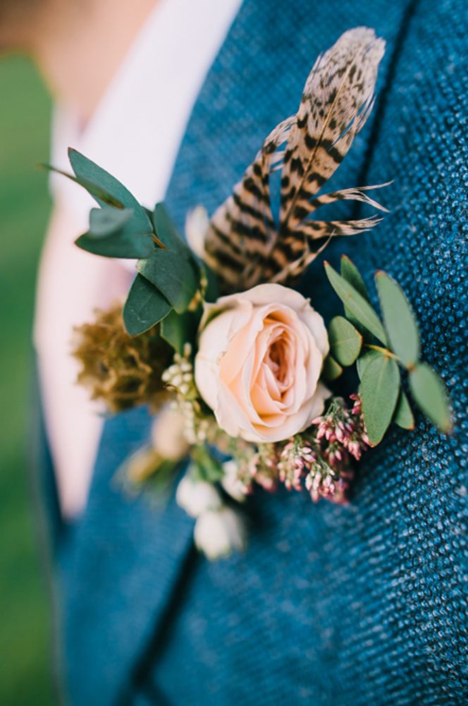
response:
<path fill-rule="evenodd" d="M 283 441 L 323 412 L 328 337 L 302 294 L 268 284 L 221 297 L 200 331 L 195 383 L 230 436 Z"/>

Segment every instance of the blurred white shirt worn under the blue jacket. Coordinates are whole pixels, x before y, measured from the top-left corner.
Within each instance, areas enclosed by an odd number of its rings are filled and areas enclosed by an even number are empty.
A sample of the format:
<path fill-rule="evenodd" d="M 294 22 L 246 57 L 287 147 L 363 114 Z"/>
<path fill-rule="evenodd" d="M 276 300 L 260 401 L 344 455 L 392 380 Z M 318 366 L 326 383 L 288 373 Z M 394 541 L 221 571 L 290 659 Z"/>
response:
<path fill-rule="evenodd" d="M 164 199 L 187 121 L 241 0 L 161 0 L 137 36 L 85 131 L 58 107 L 51 163 L 70 171 L 74 147 L 123 182 L 149 208 Z M 132 275 L 121 261 L 80 251 L 94 201 L 51 178 L 54 212 L 39 268 L 35 345 L 63 514 L 84 508 L 102 428 L 99 407 L 76 385 L 73 326 L 124 297 Z"/>

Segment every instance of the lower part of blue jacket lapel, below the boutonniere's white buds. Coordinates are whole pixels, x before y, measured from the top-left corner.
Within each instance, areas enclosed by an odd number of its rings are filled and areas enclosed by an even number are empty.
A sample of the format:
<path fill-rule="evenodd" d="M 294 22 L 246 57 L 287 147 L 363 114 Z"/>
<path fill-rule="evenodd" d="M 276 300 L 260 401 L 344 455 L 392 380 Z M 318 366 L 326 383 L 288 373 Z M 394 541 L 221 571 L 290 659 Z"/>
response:
<path fill-rule="evenodd" d="M 73 703 L 108 704 L 142 652 L 190 548 L 192 521 L 171 498 L 155 508 L 116 483 L 147 443 L 146 409 L 106 421 L 85 517 L 64 547 L 66 672 Z M 85 678 L 83 678 L 85 674 Z"/>

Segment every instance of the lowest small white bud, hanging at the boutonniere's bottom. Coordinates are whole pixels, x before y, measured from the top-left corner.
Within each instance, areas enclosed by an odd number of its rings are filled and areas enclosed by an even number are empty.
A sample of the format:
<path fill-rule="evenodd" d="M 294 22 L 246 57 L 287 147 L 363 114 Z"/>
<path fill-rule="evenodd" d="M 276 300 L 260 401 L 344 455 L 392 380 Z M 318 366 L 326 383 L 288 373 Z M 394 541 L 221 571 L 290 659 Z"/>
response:
<path fill-rule="evenodd" d="M 245 549 L 246 534 L 242 517 L 231 508 L 208 510 L 195 522 L 195 544 L 214 561 L 233 549 Z"/>

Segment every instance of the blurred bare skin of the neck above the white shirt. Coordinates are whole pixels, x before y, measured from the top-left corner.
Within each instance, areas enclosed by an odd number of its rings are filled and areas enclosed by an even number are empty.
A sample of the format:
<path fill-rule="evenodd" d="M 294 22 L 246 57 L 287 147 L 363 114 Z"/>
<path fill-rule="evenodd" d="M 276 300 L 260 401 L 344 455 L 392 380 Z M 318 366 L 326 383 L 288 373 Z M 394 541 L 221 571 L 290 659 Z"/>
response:
<path fill-rule="evenodd" d="M 159 1 L 42 0 L 23 44 L 55 100 L 83 127 Z"/>

